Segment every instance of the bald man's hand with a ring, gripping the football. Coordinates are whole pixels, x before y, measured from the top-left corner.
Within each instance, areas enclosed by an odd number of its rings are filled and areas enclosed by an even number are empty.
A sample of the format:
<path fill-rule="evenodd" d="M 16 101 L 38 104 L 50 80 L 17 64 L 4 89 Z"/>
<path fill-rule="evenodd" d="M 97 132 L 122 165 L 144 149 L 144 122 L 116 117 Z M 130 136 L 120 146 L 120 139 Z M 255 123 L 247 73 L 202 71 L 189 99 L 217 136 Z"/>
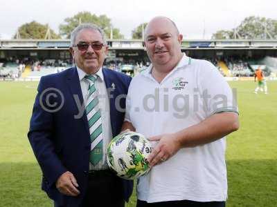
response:
<path fill-rule="evenodd" d="M 181 144 L 179 144 L 173 134 L 158 135 L 150 137 L 149 140 L 159 141 L 148 157 L 150 166 L 155 166 L 156 164 L 160 164 L 162 161 L 168 160 L 181 148 Z"/>

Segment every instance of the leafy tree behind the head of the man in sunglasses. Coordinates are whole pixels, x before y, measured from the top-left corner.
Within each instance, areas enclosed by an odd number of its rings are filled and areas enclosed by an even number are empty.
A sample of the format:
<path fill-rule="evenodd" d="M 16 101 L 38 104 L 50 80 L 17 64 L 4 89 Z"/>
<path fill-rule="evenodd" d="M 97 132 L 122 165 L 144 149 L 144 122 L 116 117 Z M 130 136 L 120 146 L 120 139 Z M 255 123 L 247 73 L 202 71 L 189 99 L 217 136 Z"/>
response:
<path fill-rule="evenodd" d="M 91 12 L 79 12 L 73 17 L 67 17 L 64 19 L 64 23 L 60 24 L 60 34 L 66 38 L 70 38 L 71 31 L 77 27 L 80 23 L 94 23 L 104 30 L 107 38 L 110 37 L 111 28 L 111 19 L 109 19 L 105 14 L 99 15 L 91 14 Z M 123 34 L 120 34 L 118 28 L 113 28 L 113 39 L 123 39 Z"/>

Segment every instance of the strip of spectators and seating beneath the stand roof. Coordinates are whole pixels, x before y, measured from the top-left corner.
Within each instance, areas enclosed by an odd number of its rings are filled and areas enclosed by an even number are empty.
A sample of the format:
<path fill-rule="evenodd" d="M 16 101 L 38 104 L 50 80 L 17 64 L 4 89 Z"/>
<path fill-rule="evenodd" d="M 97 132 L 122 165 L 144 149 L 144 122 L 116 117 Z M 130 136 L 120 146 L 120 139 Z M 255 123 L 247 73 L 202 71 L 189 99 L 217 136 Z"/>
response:
<path fill-rule="evenodd" d="M 195 57 L 194 57 L 195 58 Z M 143 57 L 142 57 L 143 59 Z M 203 58 L 202 58 L 203 59 Z M 224 77 L 250 77 L 257 68 L 264 71 L 265 76 L 275 79 L 277 75 L 277 58 L 263 57 L 260 59 L 249 59 L 249 57 L 224 56 L 219 58 L 206 58 L 211 61 Z M 0 63 L 0 77 L 10 79 L 40 79 L 44 75 L 61 72 L 72 66 L 70 59 L 5 59 Z M 149 66 L 147 61 L 109 61 L 105 67 L 111 70 L 125 72 L 134 76 Z"/>

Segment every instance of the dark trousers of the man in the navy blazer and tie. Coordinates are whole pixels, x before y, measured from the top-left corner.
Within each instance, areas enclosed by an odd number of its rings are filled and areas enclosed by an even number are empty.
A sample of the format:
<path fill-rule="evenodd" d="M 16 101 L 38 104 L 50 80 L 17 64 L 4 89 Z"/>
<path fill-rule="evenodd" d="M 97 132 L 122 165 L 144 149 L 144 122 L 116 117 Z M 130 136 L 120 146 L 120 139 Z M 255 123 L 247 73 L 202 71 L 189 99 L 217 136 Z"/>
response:
<path fill-rule="evenodd" d="M 66 207 L 57 206 L 55 207 Z M 124 207 L 123 186 L 119 177 L 109 170 L 89 172 L 89 184 L 80 207 Z"/>

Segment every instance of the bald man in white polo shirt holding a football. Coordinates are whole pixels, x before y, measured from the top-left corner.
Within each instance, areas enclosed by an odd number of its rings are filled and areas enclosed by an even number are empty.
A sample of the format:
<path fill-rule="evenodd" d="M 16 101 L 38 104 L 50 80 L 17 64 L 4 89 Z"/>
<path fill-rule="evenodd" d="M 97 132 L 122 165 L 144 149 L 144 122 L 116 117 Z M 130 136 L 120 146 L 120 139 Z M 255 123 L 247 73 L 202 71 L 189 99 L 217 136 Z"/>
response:
<path fill-rule="evenodd" d="M 145 29 L 152 65 L 129 86 L 123 130 L 154 144 L 138 207 L 225 206 L 225 136 L 239 128 L 237 106 L 215 66 L 186 57 L 181 40 L 173 21 L 152 19 Z"/>

